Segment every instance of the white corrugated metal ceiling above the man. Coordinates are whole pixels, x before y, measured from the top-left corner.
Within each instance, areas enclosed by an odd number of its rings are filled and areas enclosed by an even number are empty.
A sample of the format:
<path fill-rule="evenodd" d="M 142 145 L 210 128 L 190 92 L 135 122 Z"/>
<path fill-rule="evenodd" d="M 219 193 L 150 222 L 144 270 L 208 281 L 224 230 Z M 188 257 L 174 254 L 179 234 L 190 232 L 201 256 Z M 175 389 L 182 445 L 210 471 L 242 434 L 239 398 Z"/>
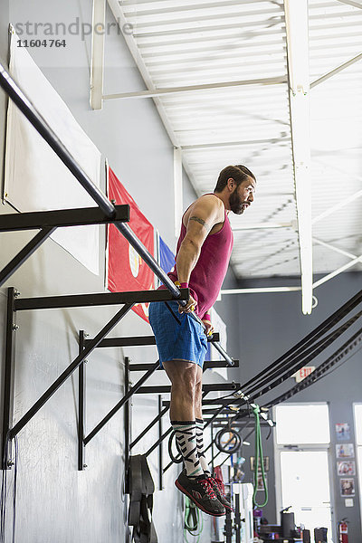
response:
<path fill-rule="evenodd" d="M 148 89 L 218 85 L 156 100 L 199 195 L 228 164 L 257 176 L 254 204 L 231 217 L 237 277 L 299 276 L 283 2 L 122 0 L 117 9 L 134 26 Z M 313 82 L 362 52 L 362 2 L 310 0 L 309 20 Z M 362 194 L 361 94 L 361 61 L 310 90 L 315 273 L 362 254 L 362 197 L 352 199 Z"/>

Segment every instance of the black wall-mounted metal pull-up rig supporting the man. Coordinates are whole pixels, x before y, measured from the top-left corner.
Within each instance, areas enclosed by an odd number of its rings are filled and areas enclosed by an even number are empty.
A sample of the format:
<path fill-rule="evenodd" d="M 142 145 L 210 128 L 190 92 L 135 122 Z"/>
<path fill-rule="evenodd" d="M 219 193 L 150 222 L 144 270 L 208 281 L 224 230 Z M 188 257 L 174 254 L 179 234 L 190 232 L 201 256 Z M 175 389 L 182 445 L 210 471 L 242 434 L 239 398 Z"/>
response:
<path fill-rule="evenodd" d="M 148 368 L 148 371 L 142 376 L 135 386 L 129 388 L 129 361 L 126 371 L 126 391 L 123 398 L 107 414 L 99 424 L 88 434 L 85 435 L 85 361 L 86 357 L 95 348 L 105 340 L 111 329 L 113 329 L 135 303 L 177 300 L 180 305 L 185 306 L 189 297 L 188 289 L 178 289 L 173 281 L 163 271 L 154 257 L 148 252 L 146 247 L 138 240 L 137 236 L 130 230 L 125 222 L 129 221 L 128 205 L 113 205 L 100 189 L 93 184 L 90 177 L 79 166 L 71 156 L 70 151 L 65 148 L 62 141 L 52 131 L 42 115 L 33 107 L 33 104 L 24 95 L 24 92 L 17 86 L 9 73 L 0 64 L 0 86 L 15 105 L 24 113 L 39 134 L 50 145 L 53 151 L 62 160 L 63 164 L 71 171 L 75 178 L 81 183 L 81 186 L 88 192 L 90 197 L 96 202 L 98 207 L 67 209 L 46 212 L 32 212 L 24 214 L 6 214 L 0 217 L 0 232 L 40 229 L 33 240 L 27 243 L 24 248 L 9 262 L 5 268 L 0 271 L 0 286 L 4 284 L 9 277 L 17 270 L 38 247 L 52 234 L 57 227 L 65 227 L 80 224 L 114 224 L 120 233 L 134 247 L 138 254 L 146 262 L 149 268 L 154 271 L 157 278 L 167 287 L 167 291 L 138 291 L 138 292 L 118 292 L 118 293 L 100 293 L 100 294 L 81 294 L 72 296 L 53 296 L 32 299 L 17 299 L 14 288 L 8 289 L 7 319 L 6 319 L 6 345 L 5 345 L 5 379 L 4 379 L 4 412 L 3 412 L 3 443 L 2 443 L 2 467 L 9 467 L 9 458 L 11 457 L 11 442 L 14 437 L 21 432 L 24 426 L 33 418 L 33 416 L 43 407 L 43 405 L 52 397 L 60 386 L 69 376 L 79 367 L 79 447 L 78 447 L 78 467 L 84 469 L 84 447 L 90 440 L 107 424 L 110 418 L 116 414 L 123 405 L 128 404 L 131 395 L 145 392 L 155 387 L 141 386 L 146 382 L 148 376 L 152 375 L 157 369 L 158 363 Z M 13 426 L 13 406 L 14 406 L 14 331 L 15 314 L 18 310 L 41 310 L 41 309 L 60 309 L 70 307 L 86 307 L 95 305 L 121 304 L 123 307 L 110 319 L 110 321 L 100 330 L 95 338 L 86 340 L 84 332 L 80 333 L 79 354 L 71 362 L 53 383 L 43 393 L 43 395 L 34 403 L 34 405 L 21 417 Z M 201 319 L 195 314 L 192 317 L 203 326 Z M 104 344 L 102 345 L 102 347 Z M 214 343 L 215 348 L 222 354 L 226 364 L 233 366 L 233 359 L 227 355 L 219 344 Z M 164 390 L 162 387 L 156 387 L 158 391 Z M 159 399 L 159 409 L 161 410 L 161 400 Z M 161 410 L 161 412 L 164 410 Z M 161 415 L 159 415 L 159 422 Z M 127 411 L 127 429 L 129 430 L 129 411 Z M 129 449 L 129 447 L 127 447 Z M 129 453 L 129 452 L 128 452 Z M 162 486 L 162 481 L 160 480 Z"/>

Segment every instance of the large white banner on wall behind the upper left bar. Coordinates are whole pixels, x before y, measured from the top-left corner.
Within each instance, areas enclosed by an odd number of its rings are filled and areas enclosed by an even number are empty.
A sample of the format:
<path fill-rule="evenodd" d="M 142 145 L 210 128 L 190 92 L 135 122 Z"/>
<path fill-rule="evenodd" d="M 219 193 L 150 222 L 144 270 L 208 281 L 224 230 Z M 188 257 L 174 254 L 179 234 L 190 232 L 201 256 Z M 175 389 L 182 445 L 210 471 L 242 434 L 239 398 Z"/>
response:
<path fill-rule="evenodd" d="M 100 186 L 100 151 L 74 119 L 65 102 L 11 35 L 9 70 L 34 107 L 71 152 L 91 181 Z M 3 199 L 19 212 L 96 207 L 23 113 L 9 100 Z M 99 273 L 98 224 L 59 228 L 52 240 L 92 273 Z"/>

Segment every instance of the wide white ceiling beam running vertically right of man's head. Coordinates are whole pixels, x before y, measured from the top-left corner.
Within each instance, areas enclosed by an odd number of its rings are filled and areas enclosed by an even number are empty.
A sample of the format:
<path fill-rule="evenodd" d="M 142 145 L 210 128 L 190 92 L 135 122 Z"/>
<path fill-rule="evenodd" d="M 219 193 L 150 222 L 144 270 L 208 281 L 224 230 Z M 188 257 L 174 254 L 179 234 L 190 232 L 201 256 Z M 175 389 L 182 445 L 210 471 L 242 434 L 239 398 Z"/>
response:
<path fill-rule="evenodd" d="M 313 305 L 310 200 L 310 73 L 308 0 L 284 0 L 287 37 L 291 147 L 300 245 L 301 310 Z"/>

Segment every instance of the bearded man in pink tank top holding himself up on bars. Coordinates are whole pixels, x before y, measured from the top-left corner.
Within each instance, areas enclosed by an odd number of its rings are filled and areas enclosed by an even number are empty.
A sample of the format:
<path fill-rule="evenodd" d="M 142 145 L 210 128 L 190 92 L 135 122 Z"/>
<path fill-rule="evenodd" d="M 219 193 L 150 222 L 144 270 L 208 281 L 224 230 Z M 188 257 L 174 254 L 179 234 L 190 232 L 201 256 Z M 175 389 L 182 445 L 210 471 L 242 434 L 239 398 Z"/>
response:
<path fill-rule="evenodd" d="M 168 275 L 177 286 L 190 289 L 190 298 L 184 307 L 176 301 L 149 306 L 159 360 L 171 381 L 170 420 L 185 463 L 175 484 L 197 507 L 216 517 L 231 506 L 205 460 L 205 333 L 214 330 L 209 311 L 220 292 L 233 249 L 227 215 L 230 211 L 243 214 L 252 204 L 255 185 L 255 177 L 247 167 L 228 166 L 220 172 L 214 193 L 202 195 L 188 207 L 177 243 L 176 268 Z M 190 315 L 192 311 L 203 320 L 205 332 Z"/>

